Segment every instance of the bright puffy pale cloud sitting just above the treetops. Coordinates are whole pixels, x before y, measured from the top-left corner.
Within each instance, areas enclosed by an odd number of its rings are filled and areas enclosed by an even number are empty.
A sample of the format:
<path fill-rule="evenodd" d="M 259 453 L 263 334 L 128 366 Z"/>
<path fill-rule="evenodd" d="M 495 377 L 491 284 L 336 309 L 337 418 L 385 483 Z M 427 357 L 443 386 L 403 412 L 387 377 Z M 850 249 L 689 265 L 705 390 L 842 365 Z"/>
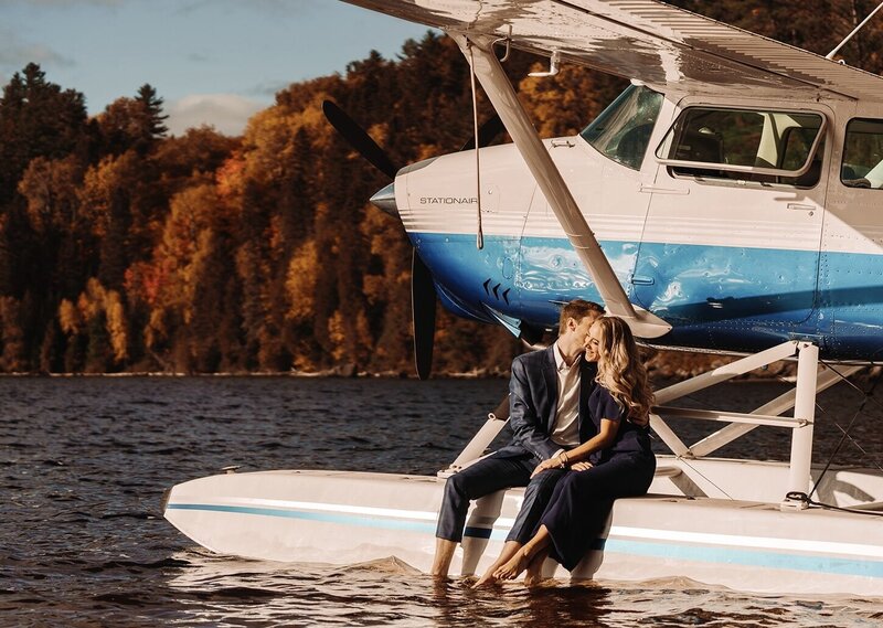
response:
<path fill-rule="evenodd" d="M 191 94 L 166 107 L 169 114 L 166 126 L 173 135 L 210 125 L 219 132 L 237 136 L 242 135 L 248 118 L 268 106 L 236 94 Z"/>

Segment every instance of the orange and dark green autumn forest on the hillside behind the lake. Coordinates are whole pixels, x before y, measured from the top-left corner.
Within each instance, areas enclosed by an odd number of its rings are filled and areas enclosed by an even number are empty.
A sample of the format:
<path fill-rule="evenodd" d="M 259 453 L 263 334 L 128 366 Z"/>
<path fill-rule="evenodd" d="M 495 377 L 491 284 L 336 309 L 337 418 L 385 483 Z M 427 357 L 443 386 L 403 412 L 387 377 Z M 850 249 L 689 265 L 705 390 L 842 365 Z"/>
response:
<path fill-rule="evenodd" d="M 671 3 L 821 54 L 876 4 Z M 880 73 L 881 51 L 876 25 L 841 53 Z M 526 77 L 543 63 L 506 66 L 542 136 L 577 132 L 626 84 L 572 66 Z M 39 65 L 15 73 L 0 98 L 0 372 L 411 374 L 411 245 L 368 203 L 389 181 L 325 99 L 398 166 L 471 136 L 467 64 L 429 33 L 290 85 L 236 138 L 170 136 L 149 84 L 89 116 Z M 492 115 L 481 94 L 479 107 Z M 439 310 L 436 373 L 504 372 L 518 351 L 503 329 Z"/>

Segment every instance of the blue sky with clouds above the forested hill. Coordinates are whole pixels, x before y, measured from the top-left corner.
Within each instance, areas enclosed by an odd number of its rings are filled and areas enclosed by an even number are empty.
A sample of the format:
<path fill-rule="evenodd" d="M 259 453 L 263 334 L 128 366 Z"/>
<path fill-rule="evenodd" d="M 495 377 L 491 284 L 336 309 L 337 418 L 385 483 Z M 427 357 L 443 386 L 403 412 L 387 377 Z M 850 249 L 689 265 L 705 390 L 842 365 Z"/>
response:
<path fill-rule="evenodd" d="M 173 135 L 238 135 L 290 83 L 427 30 L 337 0 L 0 0 L 0 85 L 34 62 L 97 115 L 149 83 Z"/>

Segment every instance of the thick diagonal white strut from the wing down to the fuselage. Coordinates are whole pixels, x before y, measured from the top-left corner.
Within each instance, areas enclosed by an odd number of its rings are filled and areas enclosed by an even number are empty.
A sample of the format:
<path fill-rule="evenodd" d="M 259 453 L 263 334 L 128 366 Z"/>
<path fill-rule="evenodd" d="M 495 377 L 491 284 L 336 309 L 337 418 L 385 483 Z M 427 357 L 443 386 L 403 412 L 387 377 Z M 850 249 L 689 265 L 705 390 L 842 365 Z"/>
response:
<path fill-rule="evenodd" d="M 549 151 L 536 137 L 536 131 L 519 103 L 515 91 L 503 73 L 500 62 L 493 54 L 489 38 L 470 39 L 459 33 L 448 33 L 460 46 L 467 61 L 472 61 L 472 71 L 490 98 L 493 108 L 506 125 L 506 130 L 515 142 L 515 148 L 524 158 L 528 168 L 536 179 L 550 207 L 555 213 L 564 233 L 571 241 L 579 259 L 585 265 L 592 280 L 600 292 L 604 305 L 611 315 L 626 319 L 635 336 L 658 338 L 667 333 L 671 326 L 659 317 L 636 308 L 616 278 L 610 263 L 595 240 L 567 184 L 558 172 Z M 471 54 L 470 54 L 471 49 Z"/>

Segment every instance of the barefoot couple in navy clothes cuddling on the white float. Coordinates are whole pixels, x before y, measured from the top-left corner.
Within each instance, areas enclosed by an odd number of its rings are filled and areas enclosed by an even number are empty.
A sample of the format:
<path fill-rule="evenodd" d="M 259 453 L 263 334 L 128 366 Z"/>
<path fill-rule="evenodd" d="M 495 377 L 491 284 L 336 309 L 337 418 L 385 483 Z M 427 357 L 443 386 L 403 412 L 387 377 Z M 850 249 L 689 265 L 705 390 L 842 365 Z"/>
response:
<path fill-rule="evenodd" d="M 512 443 L 447 480 L 432 574 L 447 576 L 470 501 L 510 487 L 525 487 L 523 504 L 475 586 L 524 571 L 536 584 L 550 556 L 573 571 L 613 500 L 643 494 L 653 480 L 652 398 L 625 321 L 591 301 L 565 305 L 557 340 L 512 362 Z"/>

